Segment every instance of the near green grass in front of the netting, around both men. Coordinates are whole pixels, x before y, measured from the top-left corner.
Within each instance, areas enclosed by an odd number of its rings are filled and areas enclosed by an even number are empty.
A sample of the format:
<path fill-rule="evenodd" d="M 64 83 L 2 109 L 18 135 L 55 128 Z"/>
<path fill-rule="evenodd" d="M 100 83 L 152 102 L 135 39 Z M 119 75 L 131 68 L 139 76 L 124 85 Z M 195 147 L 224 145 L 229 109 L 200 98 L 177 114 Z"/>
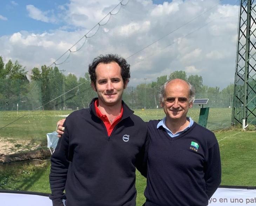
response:
<path fill-rule="evenodd" d="M 222 161 L 221 185 L 256 186 L 256 133 L 241 130 L 215 132 Z M 50 193 L 48 177 L 50 164 L 0 167 L 0 189 Z M 136 172 L 137 205 L 144 203 L 146 179 Z"/>

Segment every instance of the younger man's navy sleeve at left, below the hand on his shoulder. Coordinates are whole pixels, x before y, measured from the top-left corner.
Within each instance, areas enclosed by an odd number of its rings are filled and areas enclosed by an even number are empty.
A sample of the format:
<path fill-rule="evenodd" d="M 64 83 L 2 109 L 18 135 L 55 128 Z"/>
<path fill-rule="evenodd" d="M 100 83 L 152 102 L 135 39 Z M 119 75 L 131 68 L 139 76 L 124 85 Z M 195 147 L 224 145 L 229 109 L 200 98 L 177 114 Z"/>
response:
<path fill-rule="evenodd" d="M 49 198 L 52 200 L 53 206 L 64 206 L 62 200 L 66 199 L 65 193 L 63 193 L 69 166 L 69 135 L 66 121 L 63 126 L 65 127 L 65 132 L 59 139 L 57 147 L 51 157 L 49 181 L 52 194 L 50 194 Z"/>

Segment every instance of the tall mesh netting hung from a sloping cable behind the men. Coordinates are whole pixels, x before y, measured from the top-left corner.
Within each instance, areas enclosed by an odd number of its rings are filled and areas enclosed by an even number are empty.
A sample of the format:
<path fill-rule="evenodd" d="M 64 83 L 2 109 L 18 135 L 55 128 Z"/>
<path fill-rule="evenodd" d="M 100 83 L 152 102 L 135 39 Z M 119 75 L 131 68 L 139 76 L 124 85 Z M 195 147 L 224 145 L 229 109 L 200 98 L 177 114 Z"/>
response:
<path fill-rule="evenodd" d="M 156 82 L 154 86 L 151 82 L 157 77 L 156 71 L 158 76 L 163 76 L 175 71 L 178 65 L 185 67 L 188 56 L 181 53 L 188 49 L 190 36 L 198 45 L 207 45 L 206 51 L 214 49 L 214 42 L 208 42 L 207 38 L 202 41 L 202 36 L 196 34 L 200 32 L 207 37 L 211 22 L 223 16 L 210 16 L 218 9 L 218 1 L 200 2 L 206 9 L 197 14 L 186 10 L 184 4 L 173 2 L 174 9 L 180 6 L 181 12 L 187 15 L 179 21 L 177 16 L 171 15 L 166 25 L 161 25 L 159 8 L 148 10 L 154 5 L 149 3 L 146 7 L 144 4 L 147 2 L 123 0 L 52 65 L 32 70 L 31 81 L 0 81 L 0 139 L 5 154 L 45 147 L 46 133 L 55 130 L 59 119 L 88 107 L 96 93 L 90 87 L 86 72 L 88 65 L 100 54 L 120 54 L 131 65 L 131 79 L 123 100 L 135 114 L 145 121 L 164 116 L 159 105 L 160 85 Z M 157 30 L 162 32 L 156 36 L 153 31 Z M 184 52 L 177 56 L 174 48 Z M 189 50 L 198 52 L 196 48 Z M 165 61 L 170 57 L 176 61 Z M 209 98 L 208 128 L 230 126 L 231 88 L 220 91 L 219 87 L 207 89 L 201 85 L 197 89 L 196 98 Z M 195 121 L 199 110 L 200 106 L 194 106 L 189 111 Z"/>

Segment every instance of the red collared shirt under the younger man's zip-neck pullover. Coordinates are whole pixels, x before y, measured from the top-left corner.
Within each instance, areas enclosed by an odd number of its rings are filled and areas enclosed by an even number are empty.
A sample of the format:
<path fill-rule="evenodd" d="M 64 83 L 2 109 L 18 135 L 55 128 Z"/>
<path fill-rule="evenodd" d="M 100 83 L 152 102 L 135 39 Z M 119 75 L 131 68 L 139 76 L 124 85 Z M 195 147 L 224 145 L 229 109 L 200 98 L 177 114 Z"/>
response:
<path fill-rule="evenodd" d="M 102 113 L 100 112 L 98 105 L 99 105 L 99 100 L 96 100 L 95 103 L 95 111 L 96 111 L 96 115 L 102 120 L 102 122 L 104 123 L 107 132 L 108 132 L 108 136 L 110 136 L 110 134 L 112 133 L 114 127 L 120 122 L 122 115 L 123 115 L 123 105 L 121 107 L 121 113 L 118 117 L 115 118 L 113 124 L 111 124 L 108 120 L 107 115 L 102 115 Z"/>

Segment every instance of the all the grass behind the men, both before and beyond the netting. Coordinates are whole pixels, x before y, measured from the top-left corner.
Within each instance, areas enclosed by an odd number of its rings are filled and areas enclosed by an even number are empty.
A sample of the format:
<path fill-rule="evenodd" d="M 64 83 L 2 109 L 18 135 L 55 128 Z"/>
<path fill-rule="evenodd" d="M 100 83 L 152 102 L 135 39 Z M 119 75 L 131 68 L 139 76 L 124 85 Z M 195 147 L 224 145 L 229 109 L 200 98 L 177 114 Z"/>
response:
<path fill-rule="evenodd" d="M 0 112 L 0 128 L 12 122 L 26 112 Z M 11 141 L 27 140 L 46 146 L 46 133 L 55 130 L 57 115 L 67 115 L 68 111 L 35 111 L 21 118 L 17 122 L 0 130 L 2 140 Z M 135 110 L 135 114 L 143 120 L 161 119 L 164 116 L 162 109 Z M 189 116 L 198 120 L 199 109 L 191 109 Z M 231 109 L 210 109 L 208 126 L 230 125 Z M 220 127 L 218 127 L 220 128 Z M 219 141 L 222 161 L 222 185 L 256 186 L 256 132 L 243 132 L 239 129 L 215 132 Z M 24 145 L 19 146 L 19 148 Z M 14 148 L 15 149 L 15 148 Z M 26 145 L 25 149 L 29 149 Z M 49 161 L 41 165 L 8 165 L 8 168 L 0 167 L 0 189 L 27 190 L 50 192 Z M 144 188 L 146 179 L 138 172 L 136 174 L 137 205 L 144 201 Z"/>

